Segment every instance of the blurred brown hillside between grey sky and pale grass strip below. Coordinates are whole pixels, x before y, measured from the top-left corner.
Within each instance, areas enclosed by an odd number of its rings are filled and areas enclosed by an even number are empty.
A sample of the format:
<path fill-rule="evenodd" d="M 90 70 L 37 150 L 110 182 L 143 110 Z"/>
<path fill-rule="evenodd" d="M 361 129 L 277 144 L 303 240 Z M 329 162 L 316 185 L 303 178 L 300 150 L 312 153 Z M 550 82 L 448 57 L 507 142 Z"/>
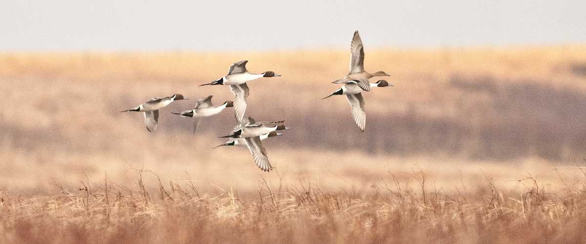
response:
<path fill-rule="evenodd" d="M 8 148 L 28 152 L 141 147 L 124 145 L 124 140 L 156 135 L 148 135 L 141 115 L 118 111 L 173 93 L 190 98 L 214 95 L 216 104 L 231 100 L 227 87 L 197 85 L 226 74 L 234 61 L 247 59 L 252 72 L 282 74 L 249 84 L 247 110 L 257 120 L 285 119 L 294 128 L 278 139 L 281 146 L 479 160 L 563 160 L 583 154 L 584 45 L 365 51 L 366 70 L 386 71 L 395 86 L 364 94 L 363 134 L 344 97 L 319 100 L 335 91 L 338 86 L 330 82 L 347 72 L 349 54 L 343 50 L 4 53 L 0 140 Z M 169 111 L 194 103 L 180 101 L 162 111 L 155 134 L 188 135 L 190 120 Z M 233 126 L 232 111 L 208 122 L 194 139 L 219 143 L 215 136 Z"/>

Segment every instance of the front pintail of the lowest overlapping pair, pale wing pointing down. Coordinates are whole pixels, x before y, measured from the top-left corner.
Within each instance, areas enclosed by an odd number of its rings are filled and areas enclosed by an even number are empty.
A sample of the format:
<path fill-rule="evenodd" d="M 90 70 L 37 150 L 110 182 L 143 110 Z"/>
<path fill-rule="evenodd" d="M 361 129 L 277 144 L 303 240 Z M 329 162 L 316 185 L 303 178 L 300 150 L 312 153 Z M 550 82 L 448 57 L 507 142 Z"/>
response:
<path fill-rule="evenodd" d="M 275 130 L 284 130 L 289 128 L 285 127 L 282 124 L 282 121 L 255 123 L 253 118 L 244 116 L 240 124 L 237 125 L 234 129 L 235 132 L 233 132 L 233 135 L 224 136 L 229 137 L 230 140 L 220 146 L 234 146 L 246 143 L 248 150 L 250 150 L 250 153 L 253 155 L 254 163 L 257 164 L 258 168 L 263 171 L 272 170 L 273 167 L 271 166 L 271 162 L 268 161 L 267 150 L 264 148 L 261 140 L 263 140 L 264 136 L 268 138 L 271 135 L 280 135 L 280 133 L 276 133 Z M 234 135 L 236 132 L 239 132 L 239 135 Z"/>

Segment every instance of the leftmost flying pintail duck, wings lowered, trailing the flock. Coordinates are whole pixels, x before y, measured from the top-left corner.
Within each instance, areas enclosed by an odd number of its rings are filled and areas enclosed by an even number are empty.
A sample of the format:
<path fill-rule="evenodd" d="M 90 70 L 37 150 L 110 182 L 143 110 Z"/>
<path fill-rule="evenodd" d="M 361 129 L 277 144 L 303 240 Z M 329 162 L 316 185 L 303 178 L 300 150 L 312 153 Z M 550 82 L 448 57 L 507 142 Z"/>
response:
<path fill-rule="evenodd" d="M 144 112 L 145 116 L 145 125 L 147 125 L 147 130 L 149 132 L 153 132 L 156 129 L 156 125 L 159 122 L 159 109 L 165 108 L 171 102 L 177 100 L 189 99 L 183 97 L 181 94 L 173 94 L 171 97 L 156 97 L 148 99 L 147 102 L 144 104 L 138 105 L 135 108 L 131 108 L 125 111 L 120 112 Z"/>

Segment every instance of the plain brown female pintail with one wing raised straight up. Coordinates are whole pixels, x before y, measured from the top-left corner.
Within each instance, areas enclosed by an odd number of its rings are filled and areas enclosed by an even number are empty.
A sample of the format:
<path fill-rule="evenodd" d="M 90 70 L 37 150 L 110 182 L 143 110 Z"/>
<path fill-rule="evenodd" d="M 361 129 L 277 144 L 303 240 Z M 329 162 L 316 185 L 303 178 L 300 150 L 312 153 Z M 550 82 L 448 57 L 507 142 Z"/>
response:
<path fill-rule="evenodd" d="M 344 84 L 350 80 L 357 80 L 358 86 L 364 91 L 370 91 L 370 83 L 368 79 L 375 76 L 389 76 L 384 71 L 377 71 L 376 73 L 368 73 L 364 71 L 364 47 L 362 39 L 358 34 L 358 30 L 354 32 L 352 43 L 350 44 L 350 72 L 343 78 L 333 81 L 336 84 Z"/>

